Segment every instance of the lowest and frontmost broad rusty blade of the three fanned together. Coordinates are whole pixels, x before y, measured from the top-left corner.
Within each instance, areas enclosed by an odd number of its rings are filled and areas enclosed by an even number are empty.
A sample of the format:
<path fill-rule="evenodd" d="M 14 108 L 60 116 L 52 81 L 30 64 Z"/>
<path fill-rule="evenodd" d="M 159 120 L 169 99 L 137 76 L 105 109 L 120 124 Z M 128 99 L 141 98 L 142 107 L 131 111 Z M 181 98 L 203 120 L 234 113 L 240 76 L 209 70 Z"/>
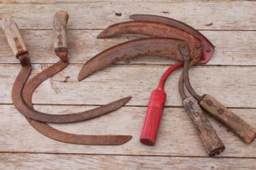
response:
<path fill-rule="evenodd" d="M 182 61 L 183 58 L 178 50 L 180 42 L 183 41 L 171 38 L 142 38 L 123 42 L 100 52 L 100 54 L 88 60 L 80 70 L 78 80 L 85 79 L 85 77 L 107 67 L 109 64 L 135 57 L 156 55 Z"/>

